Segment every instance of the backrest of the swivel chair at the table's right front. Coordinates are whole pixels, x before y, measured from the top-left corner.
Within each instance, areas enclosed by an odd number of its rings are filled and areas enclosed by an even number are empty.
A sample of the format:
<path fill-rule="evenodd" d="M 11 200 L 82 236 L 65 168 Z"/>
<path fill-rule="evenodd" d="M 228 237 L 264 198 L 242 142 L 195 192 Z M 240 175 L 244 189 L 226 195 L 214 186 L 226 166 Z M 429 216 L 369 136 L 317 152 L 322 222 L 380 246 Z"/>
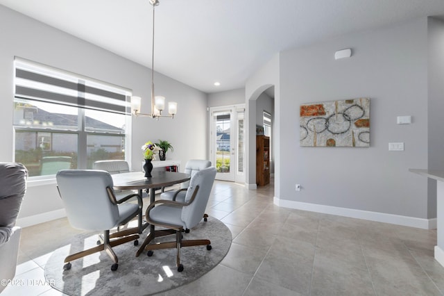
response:
<path fill-rule="evenodd" d="M 210 198 L 210 193 L 213 187 L 214 178 L 216 177 L 216 168 L 207 167 L 206 169 L 196 172 L 191 177 L 189 181 L 189 187 L 187 190 L 187 195 L 185 195 L 185 202 L 189 202 L 196 186 L 198 191 L 194 201 L 189 204 L 189 206 L 184 206 L 182 208 L 182 221 L 188 229 L 195 227 L 200 220 L 202 220 L 203 214 L 205 213 L 205 208 L 207 207 L 208 199 Z"/>

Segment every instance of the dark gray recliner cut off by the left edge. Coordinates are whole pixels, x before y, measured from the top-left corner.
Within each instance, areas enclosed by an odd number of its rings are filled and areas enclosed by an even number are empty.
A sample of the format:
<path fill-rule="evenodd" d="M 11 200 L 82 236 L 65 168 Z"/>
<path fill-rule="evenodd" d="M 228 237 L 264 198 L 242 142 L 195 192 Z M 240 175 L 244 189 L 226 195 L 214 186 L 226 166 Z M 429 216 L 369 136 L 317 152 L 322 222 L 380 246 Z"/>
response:
<path fill-rule="evenodd" d="M 28 171 L 22 163 L 0 163 L 0 279 L 13 279 L 20 233 L 15 226 L 26 193 Z M 6 285 L 0 285 L 0 293 Z"/>

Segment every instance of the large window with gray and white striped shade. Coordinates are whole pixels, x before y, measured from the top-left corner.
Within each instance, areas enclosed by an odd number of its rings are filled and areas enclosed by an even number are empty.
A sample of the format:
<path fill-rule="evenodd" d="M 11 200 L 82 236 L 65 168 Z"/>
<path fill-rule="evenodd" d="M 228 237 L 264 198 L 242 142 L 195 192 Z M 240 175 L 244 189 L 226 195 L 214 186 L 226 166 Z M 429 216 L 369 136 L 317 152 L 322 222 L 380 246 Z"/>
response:
<path fill-rule="evenodd" d="M 15 58 L 15 161 L 29 176 L 128 158 L 130 91 Z"/>

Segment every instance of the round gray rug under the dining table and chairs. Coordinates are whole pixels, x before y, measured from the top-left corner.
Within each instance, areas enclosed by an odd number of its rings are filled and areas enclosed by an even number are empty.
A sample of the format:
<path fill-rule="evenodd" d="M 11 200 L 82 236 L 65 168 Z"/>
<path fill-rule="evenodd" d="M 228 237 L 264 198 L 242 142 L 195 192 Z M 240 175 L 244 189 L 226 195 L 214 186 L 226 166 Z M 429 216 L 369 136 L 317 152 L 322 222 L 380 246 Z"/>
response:
<path fill-rule="evenodd" d="M 142 233 L 142 244 L 148 229 Z M 171 241 L 175 236 L 156 238 L 155 242 Z M 214 217 L 201 222 L 183 239 L 210 239 L 212 249 L 205 246 L 182 247 L 180 263 L 184 270 L 176 268 L 176 249 L 155 250 L 153 256 L 146 251 L 135 256 L 138 246 L 133 242 L 114 247 L 119 258 L 119 268 L 111 271 L 112 260 L 105 252 L 91 254 L 72 261 L 71 270 L 63 270 L 63 261 L 69 254 L 94 247 L 97 235 L 73 238 L 71 245 L 57 249 L 45 265 L 44 275 L 53 288 L 67 295 L 153 295 L 189 283 L 214 268 L 228 253 L 231 232 Z M 151 242 L 153 243 L 153 242 Z"/>

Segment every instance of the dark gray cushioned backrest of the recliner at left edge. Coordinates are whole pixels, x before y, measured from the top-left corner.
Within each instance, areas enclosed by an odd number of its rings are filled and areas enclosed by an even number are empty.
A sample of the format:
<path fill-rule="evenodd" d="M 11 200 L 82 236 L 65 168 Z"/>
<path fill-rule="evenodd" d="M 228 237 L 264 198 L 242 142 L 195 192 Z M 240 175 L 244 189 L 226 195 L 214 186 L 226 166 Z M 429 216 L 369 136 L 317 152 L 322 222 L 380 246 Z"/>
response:
<path fill-rule="evenodd" d="M 22 163 L 0 163 L 0 227 L 14 227 L 27 178 L 28 170 Z"/>

